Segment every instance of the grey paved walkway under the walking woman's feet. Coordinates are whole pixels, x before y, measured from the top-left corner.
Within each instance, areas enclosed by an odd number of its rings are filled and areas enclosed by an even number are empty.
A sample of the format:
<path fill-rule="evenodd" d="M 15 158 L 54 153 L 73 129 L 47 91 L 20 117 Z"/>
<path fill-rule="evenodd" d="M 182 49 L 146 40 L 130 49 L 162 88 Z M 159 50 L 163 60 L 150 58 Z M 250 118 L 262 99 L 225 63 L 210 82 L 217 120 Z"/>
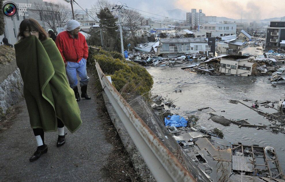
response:
<path fill-rule="evenodd" d="M 91 76 L 91 74 L 90 74 Z M 91 100 L 81 99 L 82 126 L 71 134 L 66 128 L 66 143 L 57 148 L 57 132 L 45 133 L 47 154 L 29 162 L 36 141 L 29 123 L 25 101 L 11 128 L 0 133 L 0 181 L 105 181 L 101 170 L 113 146 L 105 138 L 104 118 L 97 115 L 93 77 L 88 84 Z M 80 89 L 80 87 L 79 87 Z"/>

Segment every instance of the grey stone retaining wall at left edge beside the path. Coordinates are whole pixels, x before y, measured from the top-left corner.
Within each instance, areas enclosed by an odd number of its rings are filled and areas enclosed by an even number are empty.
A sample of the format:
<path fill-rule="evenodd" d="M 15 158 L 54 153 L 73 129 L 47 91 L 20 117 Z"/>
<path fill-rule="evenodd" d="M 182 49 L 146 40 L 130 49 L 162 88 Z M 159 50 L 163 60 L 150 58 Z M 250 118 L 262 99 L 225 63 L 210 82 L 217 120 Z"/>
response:
<path fill-rule="evenodd" d="M 0 67 L 0 119 L 23 97 L 23 80 L 16 60 Z"/>

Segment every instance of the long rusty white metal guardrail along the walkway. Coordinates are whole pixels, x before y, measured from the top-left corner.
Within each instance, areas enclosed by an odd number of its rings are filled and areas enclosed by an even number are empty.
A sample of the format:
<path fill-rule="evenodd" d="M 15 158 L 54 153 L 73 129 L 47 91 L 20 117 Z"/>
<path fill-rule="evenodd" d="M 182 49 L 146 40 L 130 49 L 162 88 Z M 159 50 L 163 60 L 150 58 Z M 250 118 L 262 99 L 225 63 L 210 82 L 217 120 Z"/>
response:
<path fill-rule="evenodd" d="M 109 82 L 98 62 L 96 69 L 103 90 L 156 181 L 196 181 Z"/>

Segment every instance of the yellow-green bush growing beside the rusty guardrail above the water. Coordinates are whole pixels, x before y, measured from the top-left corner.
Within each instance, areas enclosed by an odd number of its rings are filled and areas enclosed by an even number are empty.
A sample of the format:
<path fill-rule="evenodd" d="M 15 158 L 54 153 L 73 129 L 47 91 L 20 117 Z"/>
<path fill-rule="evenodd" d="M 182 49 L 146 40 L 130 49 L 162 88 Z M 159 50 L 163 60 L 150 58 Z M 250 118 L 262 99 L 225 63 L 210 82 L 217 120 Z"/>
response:
<path fill-rule="evenodd" d="M 142 95 L 153 86 L 153 79 L 147 70 L 137 63 L 125 60 L 119 52 L 100 49 L 99 52 L 93 51 L 92 55 L 89 53 L 89 57 L 99 63 L 105 75 L 111 76 L 112 84 L 121 94 L 136 92 Z"/>

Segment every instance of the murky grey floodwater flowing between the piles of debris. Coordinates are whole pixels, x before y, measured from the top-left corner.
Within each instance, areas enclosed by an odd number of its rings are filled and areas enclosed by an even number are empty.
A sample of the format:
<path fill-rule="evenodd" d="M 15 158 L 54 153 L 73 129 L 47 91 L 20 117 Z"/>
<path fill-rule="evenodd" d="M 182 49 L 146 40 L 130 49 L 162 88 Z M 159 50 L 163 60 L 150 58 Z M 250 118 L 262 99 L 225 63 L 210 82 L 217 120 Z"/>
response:
<path fill-rule="evenodd" d="M 183 66 L 187 66 L 183 64 Z M 231 143 L 242 142 L 244 145 L 259 144 L 259 146 L 273 146 L 277 150 L 278 158 L 285 169 L 285 135 L 273 134 L 268 130 L 255 128 L 238 128 L 237 125 L 222 126 L 208 120 L 209 115 L 198 111 L 202 107 L 211 107 L 216 114 L 229 119 L 248 119 L 251 124 L 270 124 L 263 116 L 242 104 L 229 103 L 228 100 L 270 100 L 277 101 L 285 98 L 284 85 L 272 85 L 268 77 L 235 77 L 210 76 L 187 73 L 181 67 L 147 67 L 153 76 L 153 93 L 161 94 L 170 99 L 176 99 L 179 109 L 171 110 L 181 116 L 195 114 L 200 117 L 199 126 L 207 129 L 220 128 L 225 140 Z M 181 88 L 176 93 L 175 88 Z M 176 107 L 176 108 L 177 108 Z M 221 112 L 225 111 L 225 112 Z"/>

